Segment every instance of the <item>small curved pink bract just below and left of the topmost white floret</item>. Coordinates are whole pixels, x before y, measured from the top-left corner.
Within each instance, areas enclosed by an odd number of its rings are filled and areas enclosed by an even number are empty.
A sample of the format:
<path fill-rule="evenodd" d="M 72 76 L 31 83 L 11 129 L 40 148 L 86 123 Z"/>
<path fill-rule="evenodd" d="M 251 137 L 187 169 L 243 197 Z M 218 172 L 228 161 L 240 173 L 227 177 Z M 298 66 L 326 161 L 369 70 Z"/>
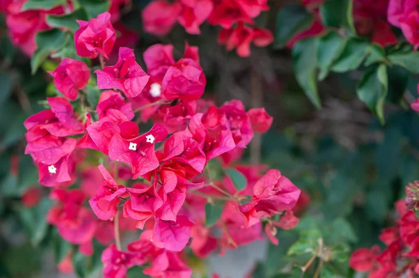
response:
<path fill-rule="evenodd" d="M 111 90 L 103 91 L 99 97 L 98 105 L 96 106 L 99 119 L 108 116 L 107 112 L 113 110 L 122 112 L 128 121 L 131 121 L 134 118 L 131 103 L 126 102 L 120 93 Z"/>

